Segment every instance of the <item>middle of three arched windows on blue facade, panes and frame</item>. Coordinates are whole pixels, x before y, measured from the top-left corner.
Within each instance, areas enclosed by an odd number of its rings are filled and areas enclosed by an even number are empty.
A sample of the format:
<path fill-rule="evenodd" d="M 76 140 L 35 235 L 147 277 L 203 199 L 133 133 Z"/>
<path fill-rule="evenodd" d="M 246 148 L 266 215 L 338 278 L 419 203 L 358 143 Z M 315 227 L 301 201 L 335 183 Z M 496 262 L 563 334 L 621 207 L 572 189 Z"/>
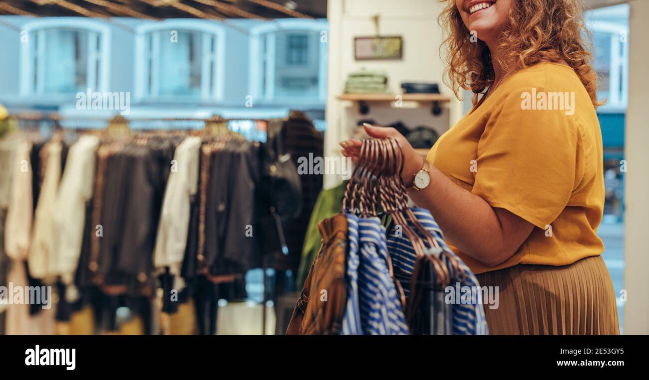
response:
<path fill-rule="evenodd" d="M 201 20 L 168 20 L 138 28 L 138 98 L 223 98 L 223 28 Z"/>

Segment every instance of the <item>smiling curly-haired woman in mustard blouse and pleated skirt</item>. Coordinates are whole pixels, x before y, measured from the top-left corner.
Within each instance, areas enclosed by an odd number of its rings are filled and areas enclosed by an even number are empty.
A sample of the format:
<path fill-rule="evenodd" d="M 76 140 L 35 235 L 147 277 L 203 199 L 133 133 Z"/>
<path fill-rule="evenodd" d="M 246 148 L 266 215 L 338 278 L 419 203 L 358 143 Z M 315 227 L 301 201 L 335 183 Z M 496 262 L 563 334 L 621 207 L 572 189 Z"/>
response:
<path fill-rule="evenodd" d="M 492 334 L 619 333 L 596 234 L 600 103 L 576 3 L 449 0 L 440 16 L 449 84 L 456 95 L 471 89 L 474 107 L 426 160 L 395 129 L 365 127 L 400 141 L 413 202 L 480 285 L 498 287 L 499 307 L 485 307 Z M 358 158 L 360 141 L 341 145 Z"/>

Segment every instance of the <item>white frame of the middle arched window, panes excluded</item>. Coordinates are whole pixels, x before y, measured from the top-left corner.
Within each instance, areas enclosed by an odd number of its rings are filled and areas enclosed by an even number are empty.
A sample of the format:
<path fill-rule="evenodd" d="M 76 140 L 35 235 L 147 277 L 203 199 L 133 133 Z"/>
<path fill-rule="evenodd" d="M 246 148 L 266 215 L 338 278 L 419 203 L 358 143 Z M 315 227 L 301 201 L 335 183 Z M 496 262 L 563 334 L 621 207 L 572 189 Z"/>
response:
<path fill-rule="evenodd" d="M 203 49 L 201 58 L 204 61 L 201 70 L 201 95 L 151 95 L 150 89 L 147 88 L 147 80 L 149 69 L 147 67 L 147 60 L 149 60 L 149 52 L 145 50 L 146 38 L 149 33 L 160 32 L 162 30 L 177 30 L 178 32 L 197 32 L 202 34 L 201 49 Z M 205 60 L 210 59 L 209 54 L 204 54 L 205 49 L 208 49 L 205 35 L 211 35 L 216 43 L 214 52 L 214 83 L 210 88 L 209 80 L 206 80 L 204 75 Z M 155 36 L 155 35 L 154 35 Z M 225 89 L 225 28 L 221 25 L 209 23 L 204 20 L 195 19 L 167 19 L 164 21 L 153 21 L 140 25 L 136 29 L 135 37 L 135 76 L 134 86 L 136 100 L 151 100 L 151 101 L 173 101 L 173 102 L 196 102 L 201 101 L 219 101 L 223 100 Z M 209 66 L 209 65 L 208 65 Z"/>

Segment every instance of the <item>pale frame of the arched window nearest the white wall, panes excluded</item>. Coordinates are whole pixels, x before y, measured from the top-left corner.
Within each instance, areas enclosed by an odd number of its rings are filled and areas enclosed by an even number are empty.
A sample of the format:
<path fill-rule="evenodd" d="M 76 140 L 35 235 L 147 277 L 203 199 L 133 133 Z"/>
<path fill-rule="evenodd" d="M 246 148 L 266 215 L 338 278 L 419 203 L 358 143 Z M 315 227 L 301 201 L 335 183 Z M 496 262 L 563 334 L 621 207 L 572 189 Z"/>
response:
<path fill-rule="evenodd" d="M 317 20 L 309 21 L 303 19 L 279 19 L 272 23 L 264 23 L 251 28 L 251 43 L 249 54 L 249 94 L 252 95 L 254 100 L 258 100 L 263 104 L 326 104 L 327 100 L 327 61 L 328 61 L 328 43 L 320 43 L 319 46 L 319 62 L 318 62 L 318 97 L 306 98 L 301 96 L 296 97 L 281 97 L 275 96 L 275 41 L 276 32 L 317 32 L 319 38 L 322 32 L 327 32 L 329 25 L 326 21 Z M 271 52 L 270 56 L 262 56 L 262 41 L 263 37 L 268 35 L 268 45 L 266 50 Z M 263 70 L 263 63 L 267 62 L 265 72 Z M 265 81 L 266 91 L 263 91 L 262 78 Z"/>

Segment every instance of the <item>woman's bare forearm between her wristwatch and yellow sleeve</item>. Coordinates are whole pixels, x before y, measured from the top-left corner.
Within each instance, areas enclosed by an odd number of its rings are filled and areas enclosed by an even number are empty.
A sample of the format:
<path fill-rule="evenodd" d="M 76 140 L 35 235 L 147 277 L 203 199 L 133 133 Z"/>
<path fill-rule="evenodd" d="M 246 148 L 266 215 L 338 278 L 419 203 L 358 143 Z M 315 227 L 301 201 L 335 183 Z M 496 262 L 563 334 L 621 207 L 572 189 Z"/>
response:
<path fill-rule="evenodd" d="M 520 240 L 507 236 L 506 230 L 517 229 L 503 209 L 495 209 L 480 196 L 461 188 L 432 165 L 428 165 L 430 184 L 422 190 L 411 190 L 409 196 L 418 207 L 430 210 L 445 238 L 462 252 L 495 266 L 511 257 L 532 231 Z M 502 218 L 504 216 L 504 218 Z M 513 214 L 511 214 L 513 216 Z M 514 216 L 518 218 L 517 216 Z"/>

